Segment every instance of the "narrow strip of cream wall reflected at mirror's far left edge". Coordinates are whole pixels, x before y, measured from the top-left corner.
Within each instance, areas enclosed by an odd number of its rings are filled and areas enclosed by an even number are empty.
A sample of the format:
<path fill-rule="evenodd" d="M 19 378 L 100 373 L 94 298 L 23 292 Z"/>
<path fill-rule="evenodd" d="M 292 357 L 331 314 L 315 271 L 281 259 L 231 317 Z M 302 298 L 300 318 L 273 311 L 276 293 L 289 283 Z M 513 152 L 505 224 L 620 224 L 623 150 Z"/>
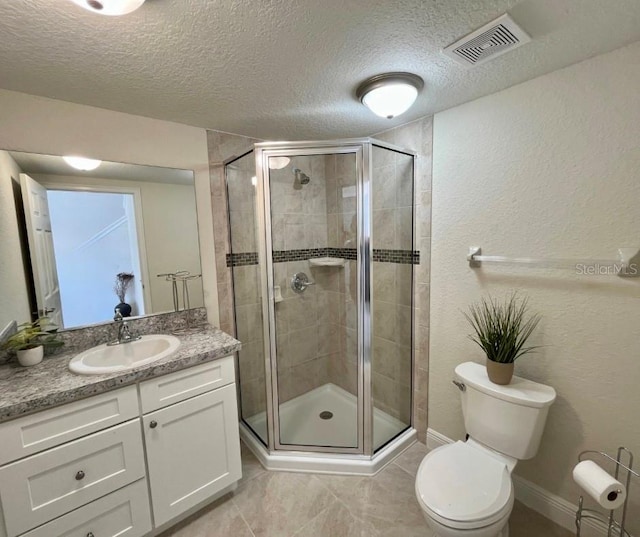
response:
<path fill-rule="evenodd" d="M 0 330 L 11 321 L 31 320 L 13 195 L 19 184 L 20 168 L 6 151 L 0 151 Z"/>

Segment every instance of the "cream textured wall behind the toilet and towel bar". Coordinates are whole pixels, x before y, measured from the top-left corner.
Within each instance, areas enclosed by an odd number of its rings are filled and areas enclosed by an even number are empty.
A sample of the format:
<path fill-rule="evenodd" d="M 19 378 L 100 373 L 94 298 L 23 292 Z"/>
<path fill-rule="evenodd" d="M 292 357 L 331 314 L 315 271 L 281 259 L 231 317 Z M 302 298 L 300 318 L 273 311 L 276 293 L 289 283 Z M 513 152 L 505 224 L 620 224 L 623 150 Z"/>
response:
<path fill-rule="evenodd" d="M 429 426 L 464 435 L 452 372 L 483 355 L 460 310 L 520 290 L 542 314 L 532 342 L 544 348 L 518 361 L 516 374 L 554 386 L 558 400 L 540 452 L 516 473 L 573 502 L 581 450 L 640 453 L 640 279 L 473 270 L 465 256 L 472 245 L 487 255 L 587 259 L 640 248 L 639 87 L 636 43 L 434 121 Z"/>

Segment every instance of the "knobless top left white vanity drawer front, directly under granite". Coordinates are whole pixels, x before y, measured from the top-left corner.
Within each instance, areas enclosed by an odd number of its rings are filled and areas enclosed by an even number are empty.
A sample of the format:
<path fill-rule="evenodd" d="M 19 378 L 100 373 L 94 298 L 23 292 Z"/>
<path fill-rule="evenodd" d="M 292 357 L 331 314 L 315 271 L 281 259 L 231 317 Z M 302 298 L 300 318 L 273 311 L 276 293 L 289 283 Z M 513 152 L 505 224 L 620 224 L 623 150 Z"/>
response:
<path fill-rule="evenodd" d="M 1 423 L 0 465 L 117 425 L 139 412 L 136 387 L 128 386 Z"/>

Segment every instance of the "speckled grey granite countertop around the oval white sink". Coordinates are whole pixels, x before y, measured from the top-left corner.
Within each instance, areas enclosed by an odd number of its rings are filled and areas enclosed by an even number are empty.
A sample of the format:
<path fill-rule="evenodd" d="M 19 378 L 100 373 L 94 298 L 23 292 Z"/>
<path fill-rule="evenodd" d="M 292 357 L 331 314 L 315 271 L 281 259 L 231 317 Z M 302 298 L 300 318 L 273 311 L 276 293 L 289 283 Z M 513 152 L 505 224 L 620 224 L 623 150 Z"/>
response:
<path fill-rule="evenodd" d="M 0 366 L 0 422 L 97 395 L 137 381 L 159 377 L 193 365 L 223 358 L 240 350 L 240 342 L 217 328 L 178 335 L 180 347 L 150 364 L 106 375 L 76 375 L 68 369 L 83 348 L 64 348 L 34 367 Z"/>

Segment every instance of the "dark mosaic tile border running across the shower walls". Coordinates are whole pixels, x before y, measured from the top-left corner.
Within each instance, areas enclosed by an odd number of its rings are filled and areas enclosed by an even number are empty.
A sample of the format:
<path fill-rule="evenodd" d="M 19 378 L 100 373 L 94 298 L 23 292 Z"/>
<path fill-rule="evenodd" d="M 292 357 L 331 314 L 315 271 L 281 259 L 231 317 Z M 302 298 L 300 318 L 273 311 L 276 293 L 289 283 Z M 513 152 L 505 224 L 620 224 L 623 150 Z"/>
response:
<path fill-rule="evenodd" d="M 358 253 L 355 248 L 307 248 L 302 250 L 274 250 L 274 263 L 287 263 L 290 261 L 306 261 L 314 257 L 339 257 L 341 259 L 355 260 Z M 407 265 L 420 264 L 420 252 L 418 250 L 383 250 L 374 248 L 373 261 L 381 263 L 401 263 Z M 227 267 L 243 267 L 257 265 L 257 252 L 242 252 L 227 254 Z"/>

